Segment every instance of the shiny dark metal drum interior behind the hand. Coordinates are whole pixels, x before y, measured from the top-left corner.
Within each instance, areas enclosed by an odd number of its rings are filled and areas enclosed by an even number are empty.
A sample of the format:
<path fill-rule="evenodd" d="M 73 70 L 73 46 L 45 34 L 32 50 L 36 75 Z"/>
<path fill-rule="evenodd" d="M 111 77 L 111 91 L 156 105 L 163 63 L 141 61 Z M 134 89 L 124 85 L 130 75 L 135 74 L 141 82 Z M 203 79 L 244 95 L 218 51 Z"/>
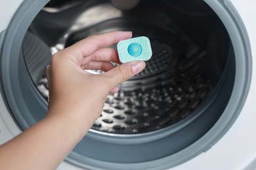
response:
<path fill-rule="evenodd" d="M 111 1 L 75 2 L 70 6 L 68 3 L 60 7 L 47 5 L 30 25 L 22 45 L 28 71 L 46 100 L 48 87 L 44 71 L 51 59 L 50 51 L 53 54 L 89 35 L 115 30 L 133 31 L 133 37 L 149 37 L 153 56 L 146 62 L 144 71 L 121 84 L 118 93 L 108 95 L 93 130 L 137 134 L 163 129 L 192 116 L 211 96 L 221 78 L 226 63 L 223 56 L 227 52 L 221 51 L 217 58 L 209 54 L 213 47 L 206 46 L 201 37 L 194 39 L 194 33 L 175 22 L 177 18 L 165 7 L 165 1 L 142 1 L 131 10 L 117 9 Z M 173 3 L 173 7 L 179 5 L 179 1 Z M 213 17 L 207 10 L 204 7 L 200 12 Z M 215 42 L 216 37 L 225 33 L 222 25 L 219 27 L 209 35 L 203 35 L 202 31 L 202 37 Z M 41 52 L 46 55 L 43 62 L 38 59 L 31 62 L 32 41 L 48 46 L 47 55 Z M 211 67 L 205 66 L 209 63 Z"/>

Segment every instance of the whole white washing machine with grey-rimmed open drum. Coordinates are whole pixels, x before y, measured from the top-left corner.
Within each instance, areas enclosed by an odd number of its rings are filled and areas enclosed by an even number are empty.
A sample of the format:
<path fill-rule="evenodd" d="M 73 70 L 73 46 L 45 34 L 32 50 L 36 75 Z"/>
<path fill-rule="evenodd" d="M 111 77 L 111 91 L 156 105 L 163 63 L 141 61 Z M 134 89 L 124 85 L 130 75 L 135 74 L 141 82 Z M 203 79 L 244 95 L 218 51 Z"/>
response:
<path fill-rule="evenodd" d="M 254 0 L 1 0 L 0 144 L 45 116 L 54 52 L 133 31 L 152 59 L 58 169 L 256 169 L 255 16 Z"/>

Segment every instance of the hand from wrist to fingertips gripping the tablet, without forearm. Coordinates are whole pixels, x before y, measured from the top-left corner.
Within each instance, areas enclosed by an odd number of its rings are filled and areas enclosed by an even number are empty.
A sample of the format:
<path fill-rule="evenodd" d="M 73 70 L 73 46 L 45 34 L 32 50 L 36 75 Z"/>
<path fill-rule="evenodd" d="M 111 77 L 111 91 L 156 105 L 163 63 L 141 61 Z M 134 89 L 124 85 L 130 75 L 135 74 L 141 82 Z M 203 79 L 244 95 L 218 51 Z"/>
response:
<path fill-rule="evenodd" d="M 144 69 L 143 61 L 119 63 L 117 51 L 108 48 L 123 39 L 131 38 L 131 32 L 110 32 L 93 35 L 54 54 L 47 67 L 49 83 L 49 112 L 47 117 L 62 118 L 85 135 L 100 116 L 108 93 L 119 90 L 117 84 Z M 84 69 L 100 69 L 105 73 L 93 75 Z"/>

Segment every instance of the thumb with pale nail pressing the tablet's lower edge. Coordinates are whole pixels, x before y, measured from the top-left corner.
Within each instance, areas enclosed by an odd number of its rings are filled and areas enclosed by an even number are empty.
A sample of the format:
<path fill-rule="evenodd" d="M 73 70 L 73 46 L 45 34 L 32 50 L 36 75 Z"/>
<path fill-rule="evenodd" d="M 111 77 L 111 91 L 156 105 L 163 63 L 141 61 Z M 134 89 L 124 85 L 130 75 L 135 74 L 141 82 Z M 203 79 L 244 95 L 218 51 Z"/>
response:
<path fill-rule="evenodd" d="M 140 73 L 145 67 L 146 63 L 144 61 L 132 61 L 123 63 L 104 74 L 110 78 L 111 86 L 114 87 Z"/>

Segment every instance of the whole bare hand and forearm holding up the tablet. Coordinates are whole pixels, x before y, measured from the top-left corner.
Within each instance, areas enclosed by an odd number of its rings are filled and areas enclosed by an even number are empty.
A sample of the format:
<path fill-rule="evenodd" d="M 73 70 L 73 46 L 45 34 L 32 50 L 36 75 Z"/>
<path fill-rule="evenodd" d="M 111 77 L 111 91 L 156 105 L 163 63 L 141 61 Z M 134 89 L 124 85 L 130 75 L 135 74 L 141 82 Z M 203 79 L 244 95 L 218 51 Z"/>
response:
<path fill-rule="evenodd" d="M 145 63 L 119 63 L 116 50 L 108 48 L 131 32 L 94 35 L 56 54 L 47 67 L 49 110 L 47 116 L 0 146 L 0 169 L 56 169 L 100 116 L 106 95 L 117 84 L 144 69 Z M 92 75 L 84 69 L 101 69 Z"/>

